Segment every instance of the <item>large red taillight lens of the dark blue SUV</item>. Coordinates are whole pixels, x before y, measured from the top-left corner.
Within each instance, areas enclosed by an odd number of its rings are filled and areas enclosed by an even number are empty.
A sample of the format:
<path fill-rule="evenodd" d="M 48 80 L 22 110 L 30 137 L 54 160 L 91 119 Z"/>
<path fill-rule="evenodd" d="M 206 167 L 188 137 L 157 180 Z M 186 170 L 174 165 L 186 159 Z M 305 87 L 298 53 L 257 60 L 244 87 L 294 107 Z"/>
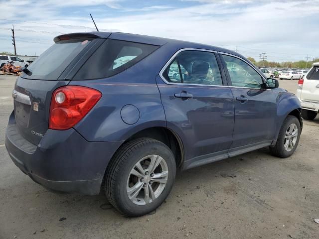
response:
<path fill-rule="evenodd" d="M 56 89 L 51 99 L 49 128 L 71 128 L 83 119 L 101 96 L 101 92 L 84 86 L 64 86 Z"/>

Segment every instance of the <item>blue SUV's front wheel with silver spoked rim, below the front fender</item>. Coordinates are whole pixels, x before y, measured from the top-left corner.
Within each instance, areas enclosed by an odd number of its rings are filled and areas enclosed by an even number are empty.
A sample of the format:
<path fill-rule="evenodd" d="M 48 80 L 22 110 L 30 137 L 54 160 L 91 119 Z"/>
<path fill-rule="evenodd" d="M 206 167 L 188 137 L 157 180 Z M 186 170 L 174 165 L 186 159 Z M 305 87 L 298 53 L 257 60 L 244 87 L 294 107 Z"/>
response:
<path fill-rule="evenodd" d="M 295 116 L 288 116 L 279 131 L 276 145 L 270 147 L 270 152 L 281 158 L 291 156 L 298 146 L 300 133 L 299 119 Z"/>

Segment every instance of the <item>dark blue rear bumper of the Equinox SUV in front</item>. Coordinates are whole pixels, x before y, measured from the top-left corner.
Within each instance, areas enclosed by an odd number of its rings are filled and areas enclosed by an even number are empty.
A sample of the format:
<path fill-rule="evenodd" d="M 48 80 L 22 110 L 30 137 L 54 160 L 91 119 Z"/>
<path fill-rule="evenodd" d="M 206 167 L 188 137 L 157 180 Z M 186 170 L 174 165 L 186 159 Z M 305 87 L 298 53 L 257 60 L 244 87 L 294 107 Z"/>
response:
<path fill-rule="evenodd" d="M 18 132 L 12 113 L 5 147 L 14 164 L 47 189 L 99 194 L 106 167 L 122 141 L 89 142 L 76 130 L 48 129 L 38 145 Z"/>

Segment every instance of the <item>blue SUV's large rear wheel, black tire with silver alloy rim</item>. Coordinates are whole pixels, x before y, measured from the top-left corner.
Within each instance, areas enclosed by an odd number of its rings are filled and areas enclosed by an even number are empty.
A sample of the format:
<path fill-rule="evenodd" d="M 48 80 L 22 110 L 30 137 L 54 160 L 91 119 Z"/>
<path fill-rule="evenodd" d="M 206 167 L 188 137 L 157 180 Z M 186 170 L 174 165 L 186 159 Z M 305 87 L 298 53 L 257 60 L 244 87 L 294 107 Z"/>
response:
<path fill-rule="evenodd" d="M 148 214 L 168 196 L 175 173 L 174 156 L 165 144 L 151 138 L 129 141 L 106 171 L 106 197 L 124 216 Z"/>

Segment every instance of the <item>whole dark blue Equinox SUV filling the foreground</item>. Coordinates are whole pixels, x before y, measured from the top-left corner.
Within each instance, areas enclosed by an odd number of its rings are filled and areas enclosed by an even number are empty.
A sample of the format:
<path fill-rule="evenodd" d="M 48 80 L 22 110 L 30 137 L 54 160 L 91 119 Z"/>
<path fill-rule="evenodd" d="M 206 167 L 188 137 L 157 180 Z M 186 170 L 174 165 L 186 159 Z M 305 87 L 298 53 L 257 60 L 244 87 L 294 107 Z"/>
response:
<path fill-rule="evenodd" d="M 5 136 L 16 166 L 45 188 L 105 191 L 141 216 L 168 196 L 176 168 L 297 148 L 298 98 L 237 52 L 127 33 L 54 41 L 17 78 Z"/>

